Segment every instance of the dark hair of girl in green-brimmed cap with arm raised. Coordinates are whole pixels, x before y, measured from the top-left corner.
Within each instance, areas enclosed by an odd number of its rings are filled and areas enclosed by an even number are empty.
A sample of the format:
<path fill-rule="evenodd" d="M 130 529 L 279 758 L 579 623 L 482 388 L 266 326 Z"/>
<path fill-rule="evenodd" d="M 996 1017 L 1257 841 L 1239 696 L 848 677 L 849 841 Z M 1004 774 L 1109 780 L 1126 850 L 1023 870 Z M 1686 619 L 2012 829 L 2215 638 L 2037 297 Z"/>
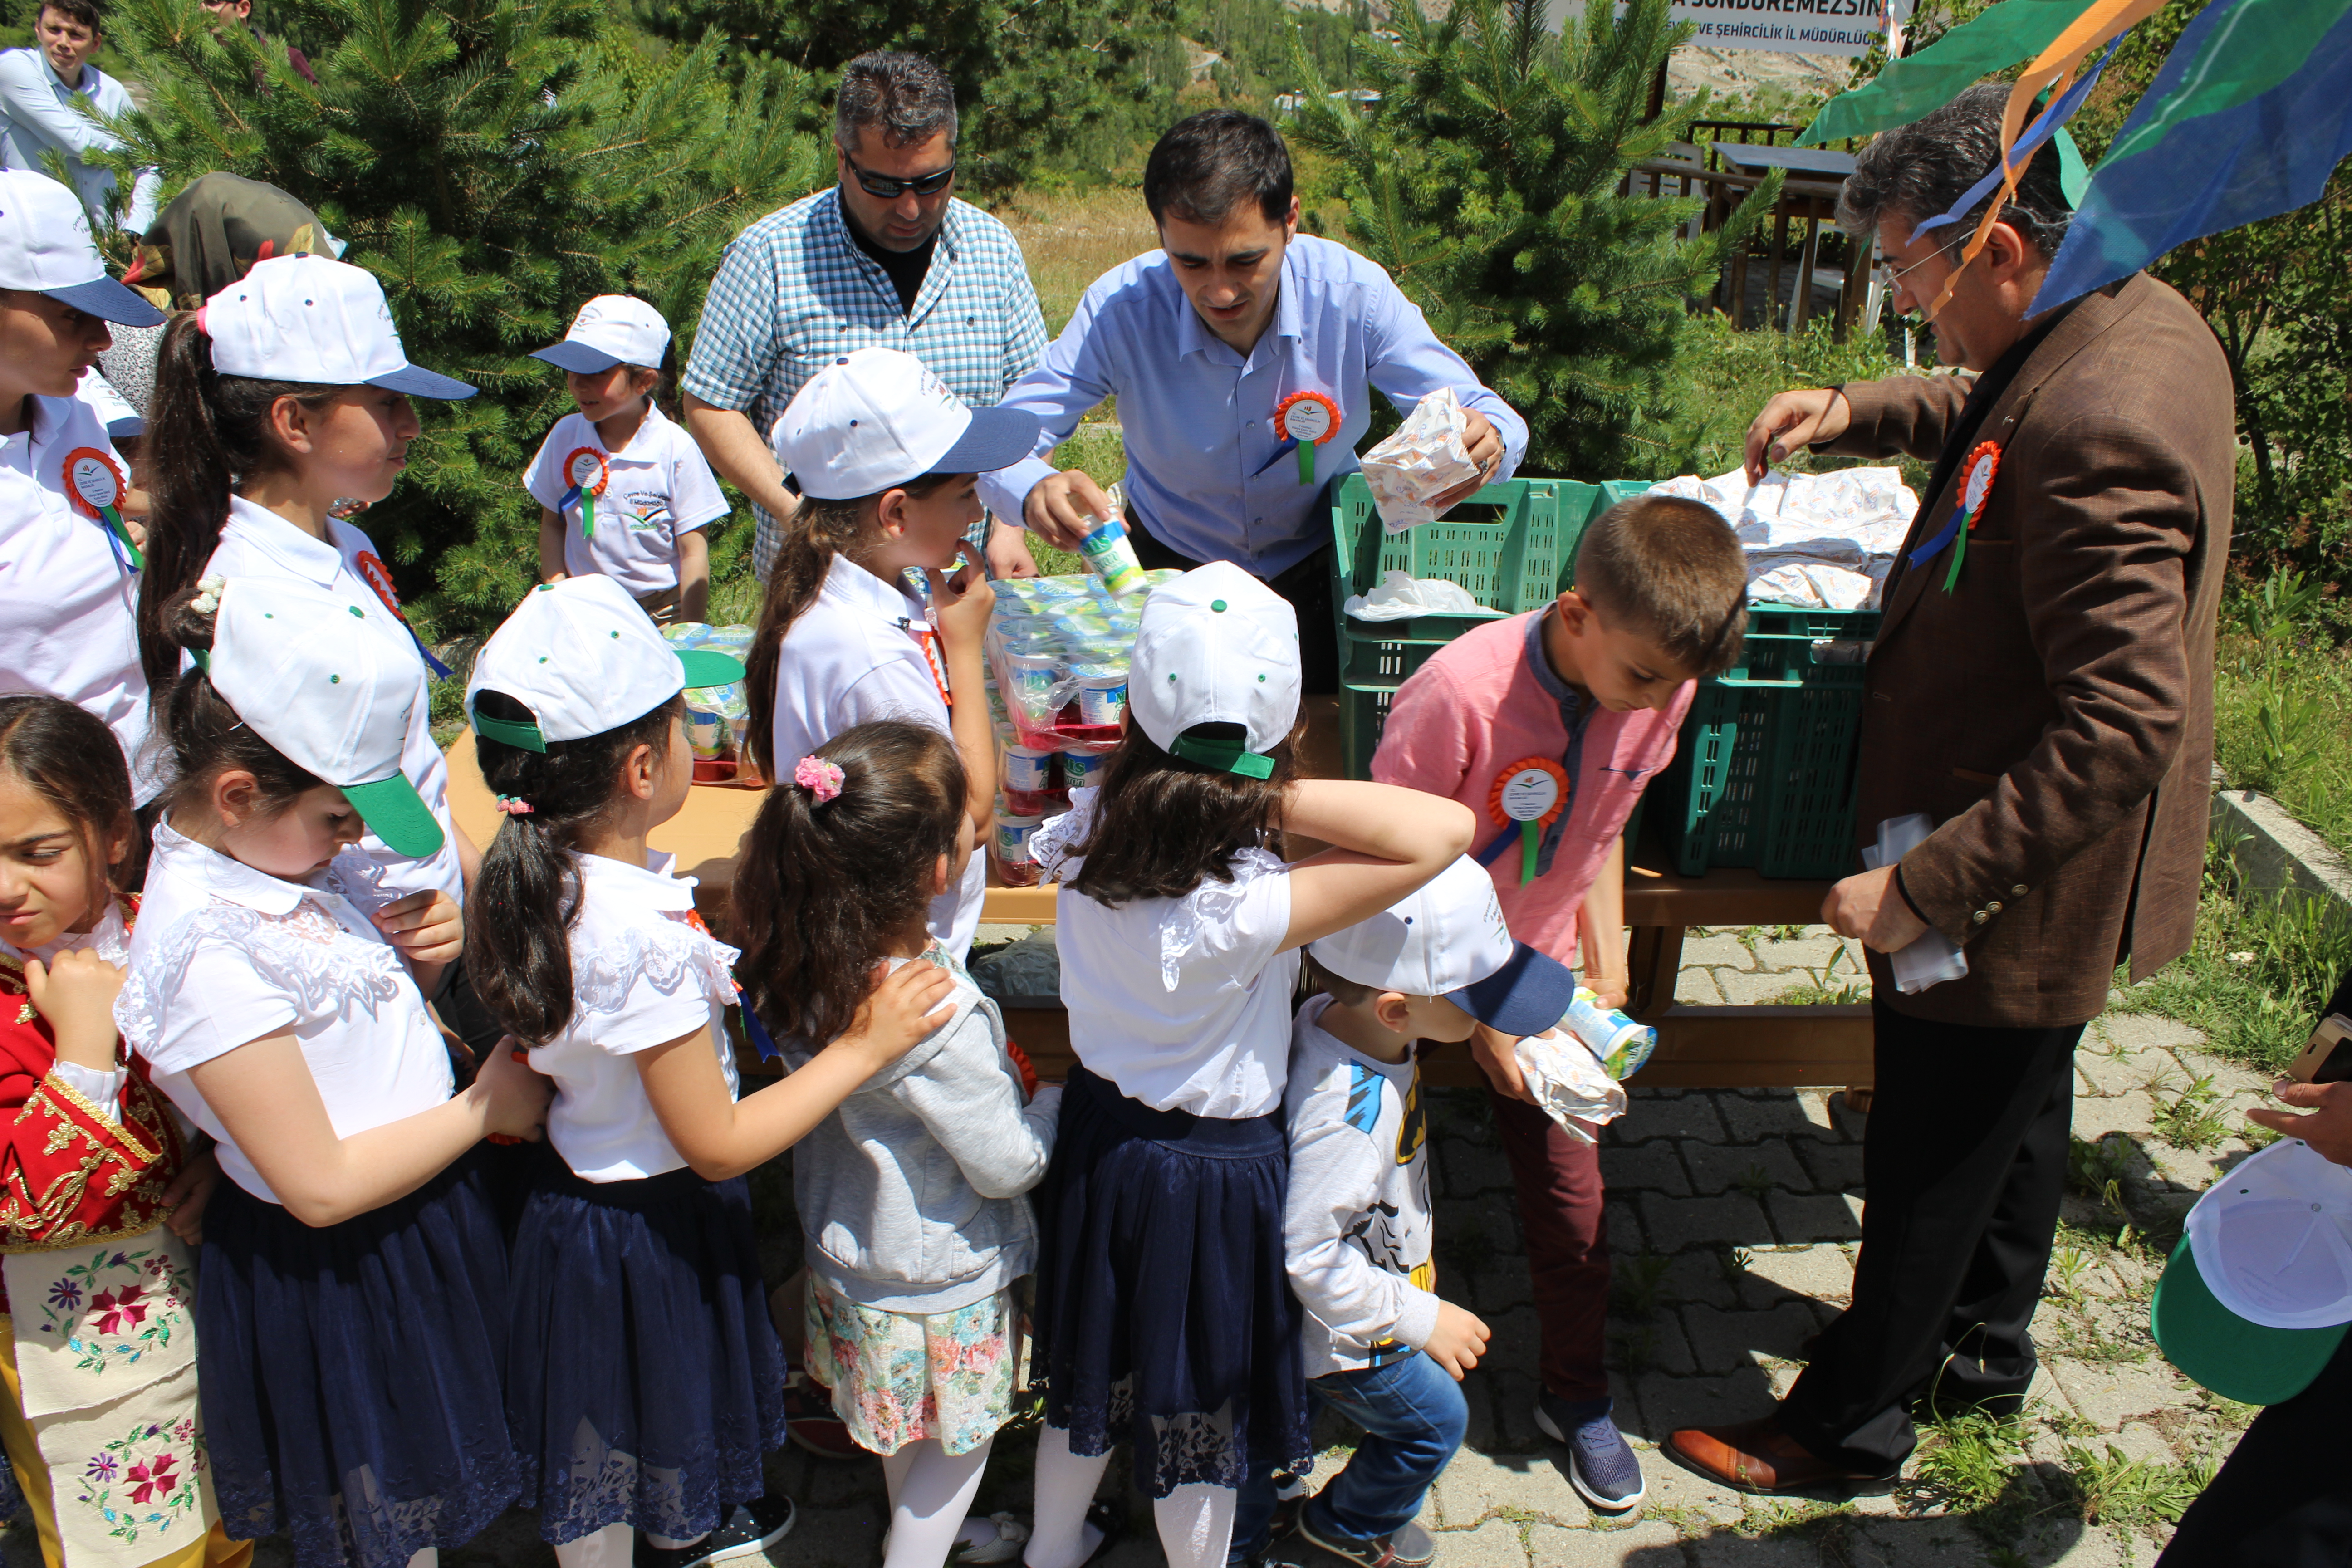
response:
<path fill-rule="evenodd" d="M 1197 741 L 1240 741 L 1240 724 L 1195 724 Z M 1070 886 L 1117 910 L 1129 898 L 1183 898 L 1202 882 L 1232 882 L 1232 858 L 1272 842 L 1296 769 L 1291 738 L 1270 778 L 1225 773 L 1160 750 L 1129 724 L 1103 764 L 1094 823 L 1073 849 L 1087 858 Z"/>

